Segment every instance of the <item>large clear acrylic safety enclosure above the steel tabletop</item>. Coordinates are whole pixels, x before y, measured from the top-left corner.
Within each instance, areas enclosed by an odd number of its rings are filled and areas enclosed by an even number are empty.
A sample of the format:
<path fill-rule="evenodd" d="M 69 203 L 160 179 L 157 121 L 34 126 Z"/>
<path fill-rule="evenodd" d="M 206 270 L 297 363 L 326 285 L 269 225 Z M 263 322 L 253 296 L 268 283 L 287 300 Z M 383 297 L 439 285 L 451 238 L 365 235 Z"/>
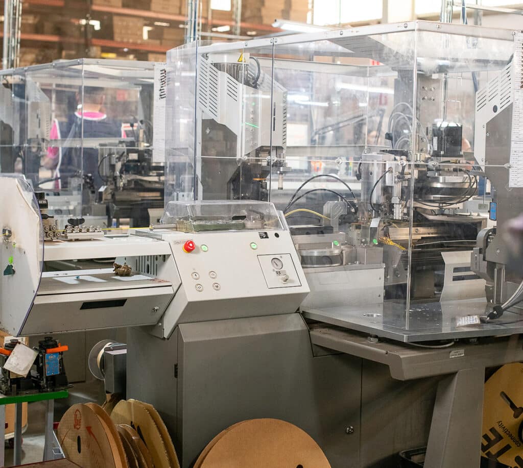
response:
<path fill-rule="evenodd" d="M 417 21 L 173 49 L 166 202 L 274 203 L 308 318 L 402 341 L 521 331 L 517 37 Z"/>

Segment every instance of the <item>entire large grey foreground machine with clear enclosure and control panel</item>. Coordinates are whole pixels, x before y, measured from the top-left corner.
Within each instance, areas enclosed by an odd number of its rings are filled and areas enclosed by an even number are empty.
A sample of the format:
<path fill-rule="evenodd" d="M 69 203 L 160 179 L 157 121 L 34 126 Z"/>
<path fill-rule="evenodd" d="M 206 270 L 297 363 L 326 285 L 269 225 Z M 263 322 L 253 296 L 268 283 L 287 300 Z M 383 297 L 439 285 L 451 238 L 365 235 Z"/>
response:
<path fill-rule="evenodd" d="M 495 458 L 485 369 L 523 360 L 500 224 L 520 204 L 520 50 L 519 32 L 420 21 L 169 51 L 161 223 L 43 247 L 27 182 L 3 177 L 0 324 L 128 327 L 126 396 L 157 408 L 183 468 L 256 417 L 335 468 Z M 119 266 L 47 268 L 71 259 Z M 92 354 L 106 384 L 118 351 Z"/>

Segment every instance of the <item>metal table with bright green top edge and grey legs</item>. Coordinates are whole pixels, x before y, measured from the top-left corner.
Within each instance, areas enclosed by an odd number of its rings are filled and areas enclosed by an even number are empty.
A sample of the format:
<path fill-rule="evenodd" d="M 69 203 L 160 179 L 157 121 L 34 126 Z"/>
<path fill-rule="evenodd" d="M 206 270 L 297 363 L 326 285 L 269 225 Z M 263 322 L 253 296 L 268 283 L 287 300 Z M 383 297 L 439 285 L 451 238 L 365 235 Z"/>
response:
<path fill-rule="evenodd" d="M 45 443 L 43 448 L 43 461 L 53 459 L 53 413 L 54 400 L 67 398 L 69 392 L 67 390 L 60 390 L 57 392 L 42 392 L 29 395 L 15 395 L 5 396 L 0 395 L 0 467 L 4 466 L 5 462 L 5 405 L 15 405 L 15 440 L 14 440 L 14 465 L 21 463 L 22 455 L 22 403 L 31 403 L 36 401 L 47 401 L 46 412 L 46 431 Z"/>

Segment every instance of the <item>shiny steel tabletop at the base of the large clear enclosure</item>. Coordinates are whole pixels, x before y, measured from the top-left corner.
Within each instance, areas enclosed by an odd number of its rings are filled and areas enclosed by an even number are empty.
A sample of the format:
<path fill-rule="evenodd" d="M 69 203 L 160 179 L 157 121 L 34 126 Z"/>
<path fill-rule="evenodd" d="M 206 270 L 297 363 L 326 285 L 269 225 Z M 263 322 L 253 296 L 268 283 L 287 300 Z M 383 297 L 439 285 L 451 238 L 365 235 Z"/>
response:
<path fill-rule="evenodd" d="M 463 300 L 415 304 L 407 314 L 404 303 L 389 301 L 368 306 L 306 309 L 303 315 L 308 319 L 405 343 L 523 333 L 523 317 L 508 311 L 496 322 L 457 325 L 458 318 L 484 316 L 487 310 L 490 311 L 490 307 L 485 300 Z"/>

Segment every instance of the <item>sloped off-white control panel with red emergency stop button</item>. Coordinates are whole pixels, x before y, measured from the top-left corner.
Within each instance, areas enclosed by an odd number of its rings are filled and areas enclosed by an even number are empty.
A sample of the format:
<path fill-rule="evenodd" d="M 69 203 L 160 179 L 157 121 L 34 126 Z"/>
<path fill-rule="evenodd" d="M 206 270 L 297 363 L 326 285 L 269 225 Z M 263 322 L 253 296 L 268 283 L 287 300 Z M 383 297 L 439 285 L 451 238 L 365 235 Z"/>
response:
<path fill-rule="evenodd" d="M 287 230 L 165 231 L 181 285 L 161 325 L 294 313 L 309 294 Z"/>

